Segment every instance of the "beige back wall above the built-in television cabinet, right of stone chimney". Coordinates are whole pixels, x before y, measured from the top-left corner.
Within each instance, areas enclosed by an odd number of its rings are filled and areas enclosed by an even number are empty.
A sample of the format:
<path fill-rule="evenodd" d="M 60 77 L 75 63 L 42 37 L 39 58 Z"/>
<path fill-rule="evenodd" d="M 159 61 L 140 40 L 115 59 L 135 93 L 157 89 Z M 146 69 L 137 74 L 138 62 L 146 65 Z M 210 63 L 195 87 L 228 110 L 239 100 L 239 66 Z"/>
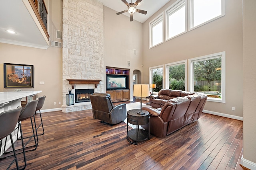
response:
<path fill-rule="evenodd" d="M 104 6 L 104 67 L 130 68 L 130 100 L 132 99 L 132 72 L 143 68 L 142 36 L 142 23 L 130 21 L 130 18 L 124 15 L 117 16 L 116 11 Z M 130 61 L 130 66 L 127 61 Z M 106 76 L 104 82 L 106 82 Z M 106 90 L 106 84 L 104 85 Z"/>

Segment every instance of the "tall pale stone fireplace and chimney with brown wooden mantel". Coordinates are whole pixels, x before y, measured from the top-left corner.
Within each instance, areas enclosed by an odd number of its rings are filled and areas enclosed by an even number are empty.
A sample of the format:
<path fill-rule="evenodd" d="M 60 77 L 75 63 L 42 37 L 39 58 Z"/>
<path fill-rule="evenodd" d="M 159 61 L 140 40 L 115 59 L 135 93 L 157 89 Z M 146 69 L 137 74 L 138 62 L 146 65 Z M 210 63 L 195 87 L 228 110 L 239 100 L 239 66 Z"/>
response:
<path fill-rule="evenodd" d="M 64 113 L 92 109 L 91 102 L 76 102 L 74 105 L 66 106 L 65 96 L 68 89 L 72 89 L 73 94 L 76 89 L 104 92 L 101 81 L 104 79 L 103 21 L 101 2 L 63 0 L 62 112 Z"/>

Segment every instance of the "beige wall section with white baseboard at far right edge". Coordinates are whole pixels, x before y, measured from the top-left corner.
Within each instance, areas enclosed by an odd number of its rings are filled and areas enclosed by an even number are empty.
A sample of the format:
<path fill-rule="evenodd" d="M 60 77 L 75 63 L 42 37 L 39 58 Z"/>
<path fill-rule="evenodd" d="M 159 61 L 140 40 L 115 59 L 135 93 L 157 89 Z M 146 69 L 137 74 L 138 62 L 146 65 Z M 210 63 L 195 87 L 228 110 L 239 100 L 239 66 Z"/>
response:
<path fill-rule="evenodd" d="M 244 122 L 243 122 L 243 157 L 241 164 L 256 169 L 256 1 L 243 1 L 243 56 L 244 56 Z"/>

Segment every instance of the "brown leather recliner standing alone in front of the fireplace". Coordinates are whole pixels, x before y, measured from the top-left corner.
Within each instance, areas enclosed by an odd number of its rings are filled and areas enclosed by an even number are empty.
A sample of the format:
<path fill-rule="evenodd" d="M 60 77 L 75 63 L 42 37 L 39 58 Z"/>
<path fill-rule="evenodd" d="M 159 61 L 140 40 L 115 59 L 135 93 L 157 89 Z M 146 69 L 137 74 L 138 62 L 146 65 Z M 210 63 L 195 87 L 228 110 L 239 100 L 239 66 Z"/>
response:
<path fill-rule="evenodd" d="M 104 123 L 117 124 L 126 119 L 126 104 L 114 106 L 110 94 L 94 93 L 90 95 L 94 119 Z"/>

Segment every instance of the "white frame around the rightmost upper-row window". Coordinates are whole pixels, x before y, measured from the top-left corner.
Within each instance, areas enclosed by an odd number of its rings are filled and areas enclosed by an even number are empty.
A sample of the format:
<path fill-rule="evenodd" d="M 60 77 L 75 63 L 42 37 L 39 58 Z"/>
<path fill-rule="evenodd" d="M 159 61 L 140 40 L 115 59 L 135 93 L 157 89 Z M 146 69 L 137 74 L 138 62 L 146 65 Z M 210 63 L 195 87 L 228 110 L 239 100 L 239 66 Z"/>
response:
<path fill-rule="evenodd" d="M 223 16 L 225 16 L 225 0 L 221 0 L 221 15 L 216 16 L 215 18 L 212 18 L 211 20 L 205 21 L 199 25 L 196 25 L 194 27 L 194 18 L 193 18 L 193 1 L 194 0 L 188 0 L 188 31 L 191 31 L 193 29 L 196 29 L 202 25 L 205 25 L 206 23 L 209 23 L 211 21 L 217 20 L 218 18 L 221 18 Z"/>

